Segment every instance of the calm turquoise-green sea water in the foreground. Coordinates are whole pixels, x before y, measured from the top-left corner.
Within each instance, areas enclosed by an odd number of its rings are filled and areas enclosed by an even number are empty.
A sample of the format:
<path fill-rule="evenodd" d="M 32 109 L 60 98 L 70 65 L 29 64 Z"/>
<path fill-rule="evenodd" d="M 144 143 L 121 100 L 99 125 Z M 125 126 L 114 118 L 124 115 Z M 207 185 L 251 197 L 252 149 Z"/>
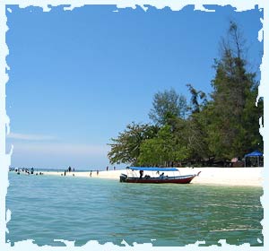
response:
<path fill-rule="evenodd" d="M 24 176 L 10 173 L 6 208 L 12 211 L 6 241 L 34 239 L 39 246 L 65 246 L 54 239 L 121 246 L 263 246 L 263 189 L 245 186 L 125 184 L 117 180 Z M 257 241 L 260 239 L 261 243 Z M 152 240 L 156 239 L 156 240 Z"/>

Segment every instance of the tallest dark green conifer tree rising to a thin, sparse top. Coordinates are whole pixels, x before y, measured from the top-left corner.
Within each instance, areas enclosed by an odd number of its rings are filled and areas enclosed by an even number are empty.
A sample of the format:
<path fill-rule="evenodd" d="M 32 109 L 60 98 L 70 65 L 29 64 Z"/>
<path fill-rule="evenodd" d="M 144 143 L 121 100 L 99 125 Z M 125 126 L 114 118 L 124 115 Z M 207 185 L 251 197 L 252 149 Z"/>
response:
<path fill-rule="evenodd" d="M 237 24 L 230 22 L 228 36 L 221 41 L 221 58 L 214 64 L 213 112 L 208 126 L 210 150 L 220 159 L 243 156 L 255 144 L 254 138 L 260 140 L 256 74 L 247 72 L 245 50 Z"/>

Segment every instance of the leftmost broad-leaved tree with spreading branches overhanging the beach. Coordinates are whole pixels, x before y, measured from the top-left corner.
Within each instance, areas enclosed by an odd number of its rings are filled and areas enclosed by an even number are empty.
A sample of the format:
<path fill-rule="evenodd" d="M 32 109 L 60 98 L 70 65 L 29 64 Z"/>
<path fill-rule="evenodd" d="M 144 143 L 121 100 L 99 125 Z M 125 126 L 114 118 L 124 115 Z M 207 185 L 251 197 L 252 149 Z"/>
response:
<path fill-rule="evenodd" d="M 144 140 L 151 139 L 158 132 L 158 127 L 147 124 L 134 124 L 126 126 L 123 133 L 117 138 L 112 138 L 113 143 L 108 143 L 111 150 L 108 152 L 108 159 L 111 164 L 126 163 L 134 164 L 140 154 L 140 146 Z"/>

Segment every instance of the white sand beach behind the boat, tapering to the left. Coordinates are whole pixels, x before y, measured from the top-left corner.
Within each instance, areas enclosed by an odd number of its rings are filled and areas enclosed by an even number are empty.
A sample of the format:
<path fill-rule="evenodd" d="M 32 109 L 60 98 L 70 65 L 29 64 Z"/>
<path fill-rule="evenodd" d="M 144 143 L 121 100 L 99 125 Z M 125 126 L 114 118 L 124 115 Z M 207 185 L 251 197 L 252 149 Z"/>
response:
<path fill-rule="evenodd" d="M 201 173 L 192 181 L 194 184 L 226 185 L 226 186 L 263 186 L 264 168 L 181 168 L 181 175 Z M 71 171 L 45 171 L 44 175 L 56 175 L 66 177 L 112 178 L 119 179 L 121 173 L 126 174 L 126 169 L 77 172 Z M 134 171 L 135 172 L 135 171 Z M 144 175 L 152 176 L 152 171 L 145 171 Z M 135 174 L 134 174 L 135 175 Z M 171 175 L 171 173 L 169 174 Z M 175 173 L 176 175 L 176 173 Z M 178 173 L 177 173 L 178 175 Z M 137 176 L 139 176 L 137 174 Z"/>

